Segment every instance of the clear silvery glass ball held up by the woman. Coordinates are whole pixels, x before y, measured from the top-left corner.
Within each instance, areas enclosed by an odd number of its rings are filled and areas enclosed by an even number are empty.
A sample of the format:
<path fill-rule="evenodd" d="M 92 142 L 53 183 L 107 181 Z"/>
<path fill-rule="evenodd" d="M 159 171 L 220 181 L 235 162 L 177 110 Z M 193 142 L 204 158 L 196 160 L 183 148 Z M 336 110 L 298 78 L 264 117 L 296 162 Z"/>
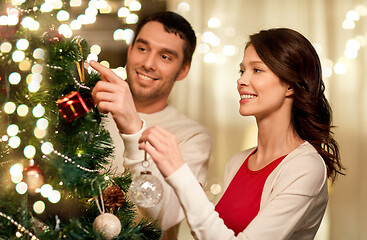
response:
<path fill-rule="evenodd" d="M 162 200 L 163 186 L 150 171 L 143 171 L 133 178 L 129 192 L 137 206 L 149 208 L 156 206 Z"/>

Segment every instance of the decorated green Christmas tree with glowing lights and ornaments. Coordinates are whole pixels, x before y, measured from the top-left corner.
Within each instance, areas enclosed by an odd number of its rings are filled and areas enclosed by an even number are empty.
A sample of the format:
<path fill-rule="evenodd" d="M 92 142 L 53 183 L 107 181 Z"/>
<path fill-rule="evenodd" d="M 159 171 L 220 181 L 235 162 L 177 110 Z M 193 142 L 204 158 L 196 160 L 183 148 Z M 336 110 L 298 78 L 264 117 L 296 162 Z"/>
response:
<path fill-rule="evenodd" d="M 61 6 L 41 11 L 50 2 Z M 59 33 L 68 3 L 1 4 L 0 239 L 159 239 L 155 221 L 136 220 L 131 175 L 106 167 L 113 143 L 90 96 L 89 46 Z"/>

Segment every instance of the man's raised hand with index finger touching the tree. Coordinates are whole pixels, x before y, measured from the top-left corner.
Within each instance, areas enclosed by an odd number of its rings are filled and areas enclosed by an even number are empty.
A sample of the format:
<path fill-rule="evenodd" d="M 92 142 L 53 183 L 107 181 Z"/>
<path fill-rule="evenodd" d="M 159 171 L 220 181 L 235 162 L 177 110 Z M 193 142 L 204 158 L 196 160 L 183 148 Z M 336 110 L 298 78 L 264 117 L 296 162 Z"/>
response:
<path fill-rule="evenodd" d="M 142 127 L 129 85 L 111 69 L 90 61 L 89 65 L 101 74 L 101 81 L 93 88 L 92 96 L 102 113 L 111 113 L 121 133 L 133 134 Z"/>

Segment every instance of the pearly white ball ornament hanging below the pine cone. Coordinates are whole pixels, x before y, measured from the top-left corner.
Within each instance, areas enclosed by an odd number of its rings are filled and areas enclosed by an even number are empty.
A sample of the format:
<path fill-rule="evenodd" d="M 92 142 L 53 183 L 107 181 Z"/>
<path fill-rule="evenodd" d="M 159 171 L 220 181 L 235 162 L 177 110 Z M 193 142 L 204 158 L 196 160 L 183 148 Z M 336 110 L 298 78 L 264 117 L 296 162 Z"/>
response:
<path fill-rule="evenodd" d="M 106 240 L 110 240 L 120 234 L 121 222 L 112 213 L 102 213 L 94 220 L 93 228 L 96 232 L 102 234 Z"/>

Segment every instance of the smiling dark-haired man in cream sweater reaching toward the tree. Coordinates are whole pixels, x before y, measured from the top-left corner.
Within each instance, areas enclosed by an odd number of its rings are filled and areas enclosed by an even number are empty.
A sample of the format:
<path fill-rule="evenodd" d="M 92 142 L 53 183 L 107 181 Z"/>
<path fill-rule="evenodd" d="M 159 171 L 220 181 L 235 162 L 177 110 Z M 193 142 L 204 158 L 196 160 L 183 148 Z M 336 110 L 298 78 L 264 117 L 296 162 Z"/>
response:
<path fill-rule="evenodd" d="M 137 26 L 127 55 L 126 82 L 110 69 L 90 62 L 102 80 L 94 87 L 92 96 L 98 109 L 110 113 L 116 123 L 124 143 L 123 164 L 130 171 L 144 170 L 141 164 L 144 152 L 138 149 L 141 133 L 148 127 L 160 125 L 175 134 L 184 160 L 198 181 L 204 183 L 210 134 L 168 104 L 174 83 L 189 72 L 195 47 L 196 36 L 190 24 L 176 13 L 160 12 Z M 149 161 L 149 170 L 161 180 L 164 194 L 158 206 L 140 210 L 158 219 L 163 230 L 161 239 L 177 239 L 184 213 L 173 189 L 165 183 L 154 162 Z"/>

